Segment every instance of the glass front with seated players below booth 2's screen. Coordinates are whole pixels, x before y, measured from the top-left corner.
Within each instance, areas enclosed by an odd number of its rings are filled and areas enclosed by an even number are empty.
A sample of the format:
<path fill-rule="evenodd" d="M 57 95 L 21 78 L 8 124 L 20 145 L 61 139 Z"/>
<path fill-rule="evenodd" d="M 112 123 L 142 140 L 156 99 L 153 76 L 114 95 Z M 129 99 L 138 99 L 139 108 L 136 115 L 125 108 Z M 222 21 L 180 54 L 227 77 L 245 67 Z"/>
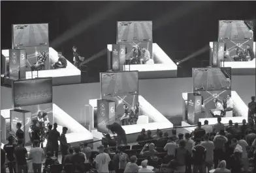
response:
<path fill-rule="evenodd" d="M 125 64 L 155 64 L 153 60 L 152 42 L 124 42 Z"/>

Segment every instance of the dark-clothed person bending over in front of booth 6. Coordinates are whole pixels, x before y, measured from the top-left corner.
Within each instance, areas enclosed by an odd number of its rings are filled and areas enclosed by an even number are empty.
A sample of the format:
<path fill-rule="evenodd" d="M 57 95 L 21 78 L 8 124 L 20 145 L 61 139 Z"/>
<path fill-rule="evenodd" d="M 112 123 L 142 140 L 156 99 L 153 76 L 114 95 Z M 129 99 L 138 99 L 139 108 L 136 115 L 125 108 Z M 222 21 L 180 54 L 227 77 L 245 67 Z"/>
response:
<path fill-rule="evenodd" d="M 123 144 L 127 145 L 126 133 L 120 124 L 114 122 L 113 124 L 106 125 L 106 128 L 109 129 L 113 134 L 117 135 L 117 146 L 120 146 L 121 141 L 123 141 Z"/>

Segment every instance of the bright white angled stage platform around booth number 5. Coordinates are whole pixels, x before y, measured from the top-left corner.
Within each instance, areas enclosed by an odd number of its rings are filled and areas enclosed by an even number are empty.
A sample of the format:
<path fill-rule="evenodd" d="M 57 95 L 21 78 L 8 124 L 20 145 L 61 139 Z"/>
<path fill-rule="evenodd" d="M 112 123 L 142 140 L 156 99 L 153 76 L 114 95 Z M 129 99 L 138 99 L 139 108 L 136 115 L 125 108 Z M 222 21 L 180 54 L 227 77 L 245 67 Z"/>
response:
<path fill-rule="evenodd" d="M 242 123 L 242 120 L 248 121 L 248 106 L 240 96 L 237 94 L 236 91 L 231 91 L 232 101 L 234 103 L 234 110 L 240 115 L 235 117 L 223 117 L 221 118 L 221 122 L 223 124 L 229 124 L 229 120 L 232 120 L 233 123 Z M 187 102 L 187 92 L 182 93 L 182 98 L 184 102 Z M 204 120 L 208 120 L 210 125 L 214 125 L 217 123 L 217 118 L 199 118 L 199 122 L 204 124 Z M 182 122 L 182 126 L 191 126 L 187 122 Z M 187 127 L 185 128 L 188 131 L 191 131 L 192 129 L 195 129 L 195 127 Z"/>

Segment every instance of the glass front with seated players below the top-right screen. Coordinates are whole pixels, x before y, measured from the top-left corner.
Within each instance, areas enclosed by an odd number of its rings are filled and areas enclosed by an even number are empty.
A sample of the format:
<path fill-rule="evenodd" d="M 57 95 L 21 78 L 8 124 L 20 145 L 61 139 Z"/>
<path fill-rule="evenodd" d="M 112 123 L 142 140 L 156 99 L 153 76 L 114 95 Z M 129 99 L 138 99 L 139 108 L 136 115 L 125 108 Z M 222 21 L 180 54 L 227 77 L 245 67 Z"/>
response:
<path fill-rule="evenodd" d="M 223 40 L 222 42 L 224 42 L 225 61 L 252 61 L 255 59 L 253 40 Z"/>

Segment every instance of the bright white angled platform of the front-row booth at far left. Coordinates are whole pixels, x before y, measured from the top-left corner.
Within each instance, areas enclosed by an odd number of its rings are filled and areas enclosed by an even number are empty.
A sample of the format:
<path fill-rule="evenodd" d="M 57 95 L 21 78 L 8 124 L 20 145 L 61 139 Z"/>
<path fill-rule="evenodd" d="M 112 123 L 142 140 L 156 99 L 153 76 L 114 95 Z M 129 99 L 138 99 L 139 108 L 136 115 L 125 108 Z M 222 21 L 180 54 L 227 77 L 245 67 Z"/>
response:
<path fill-rule="evenodd" d="M 1 116 L 3 117 L 1 120 L 10 118 L 10 109 L 1 110 Z M 57 130 L 59 133 L 62 132 L 63 126 L 69 129 L 68 133 L 66 134 L 66 138 L 67 142 L 71 144 L 71 146 L 78 146 L 80 142 L 93 141 L 93 135 L 88 131 L 88 129 L 76 122 L 76 120 L 74 120 L 69 114 L 65 113 L 65 111 L 63 111 L 54 103 L 53 116 L 54 122 L 58 124 Z M 1 122 L 2 129 L 6 128 L 4 125 L 5 122 Z M 6 139 L 6 134 L 3 133 L 1 139 Z M 44 147 L 46 146 L 46 142 L 47 141 L 44 142 Z"/>

